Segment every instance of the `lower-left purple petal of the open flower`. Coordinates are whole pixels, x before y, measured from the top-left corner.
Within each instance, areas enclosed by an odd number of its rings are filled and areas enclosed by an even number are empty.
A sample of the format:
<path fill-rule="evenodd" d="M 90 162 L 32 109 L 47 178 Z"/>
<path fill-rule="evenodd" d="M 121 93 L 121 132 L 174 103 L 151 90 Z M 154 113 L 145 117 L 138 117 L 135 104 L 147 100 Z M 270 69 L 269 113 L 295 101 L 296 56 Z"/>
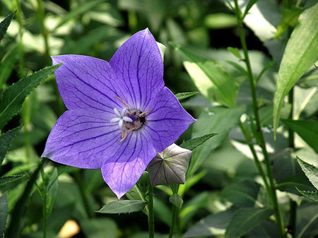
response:
<path fill-rule="evenodd" d="M 42 157 L 73 167 L 100 169 L 119 148 L 121 131 L 113 114 L 69 110 L 57 120 Z"/>

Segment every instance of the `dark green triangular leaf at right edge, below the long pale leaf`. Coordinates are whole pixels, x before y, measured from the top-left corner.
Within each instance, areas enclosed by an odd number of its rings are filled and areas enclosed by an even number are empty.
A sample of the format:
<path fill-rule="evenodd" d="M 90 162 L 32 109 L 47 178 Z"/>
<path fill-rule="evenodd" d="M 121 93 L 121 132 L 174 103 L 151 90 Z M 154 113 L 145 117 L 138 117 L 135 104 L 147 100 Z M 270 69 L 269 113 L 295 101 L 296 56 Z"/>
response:
<path fill-rule="evenodd" d="M 318 121 L 295 121 L 288 119 L 282 119 L 281 121 L 283 121 L 290 129 L 293 129 L 293 131 L 298 133 L 298 135 L 318 153 Z"/>

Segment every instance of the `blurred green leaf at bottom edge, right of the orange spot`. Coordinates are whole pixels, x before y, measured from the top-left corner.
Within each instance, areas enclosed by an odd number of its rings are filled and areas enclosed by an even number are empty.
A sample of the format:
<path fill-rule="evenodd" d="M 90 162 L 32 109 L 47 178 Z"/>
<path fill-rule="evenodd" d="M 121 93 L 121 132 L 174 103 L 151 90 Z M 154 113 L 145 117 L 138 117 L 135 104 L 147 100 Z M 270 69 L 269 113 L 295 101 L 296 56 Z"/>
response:
<path fill-rule="evenodd" d="M 94 218 L 81 220 L 81 229 L 87 238 L 113 238 L 117 237 L 117 225 L 110 218 Z"/>

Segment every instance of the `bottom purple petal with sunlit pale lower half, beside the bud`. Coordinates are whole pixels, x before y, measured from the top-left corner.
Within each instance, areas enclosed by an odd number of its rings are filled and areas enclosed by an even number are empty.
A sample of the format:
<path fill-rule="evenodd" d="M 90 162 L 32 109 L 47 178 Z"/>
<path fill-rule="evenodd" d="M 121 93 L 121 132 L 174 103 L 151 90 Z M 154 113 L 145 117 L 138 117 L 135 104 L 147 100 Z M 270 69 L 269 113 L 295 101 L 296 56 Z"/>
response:
<path fill-rule="evenodd" d="M 102 166 L 102 177 L 118 199 L 136 184 L 157 154 L 148 139 L 142 132 L 132 131 L 121 142 L 117 153 Z"/>

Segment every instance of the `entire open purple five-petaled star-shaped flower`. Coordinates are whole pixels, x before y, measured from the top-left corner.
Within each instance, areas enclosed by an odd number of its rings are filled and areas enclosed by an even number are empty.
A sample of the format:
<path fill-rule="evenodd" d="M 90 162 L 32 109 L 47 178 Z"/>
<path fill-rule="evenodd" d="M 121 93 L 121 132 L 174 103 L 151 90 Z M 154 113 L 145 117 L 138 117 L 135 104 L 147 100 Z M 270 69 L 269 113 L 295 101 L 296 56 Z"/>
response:
<path fill-rule="evenodd" d="M 89 56 L 52 56 L 67 111 L 42 157 L 102 177 L 121 198 L 193 119 L 164 86 L 163 59 L 148 29 L 129 38 L 110 63 Z"/>

